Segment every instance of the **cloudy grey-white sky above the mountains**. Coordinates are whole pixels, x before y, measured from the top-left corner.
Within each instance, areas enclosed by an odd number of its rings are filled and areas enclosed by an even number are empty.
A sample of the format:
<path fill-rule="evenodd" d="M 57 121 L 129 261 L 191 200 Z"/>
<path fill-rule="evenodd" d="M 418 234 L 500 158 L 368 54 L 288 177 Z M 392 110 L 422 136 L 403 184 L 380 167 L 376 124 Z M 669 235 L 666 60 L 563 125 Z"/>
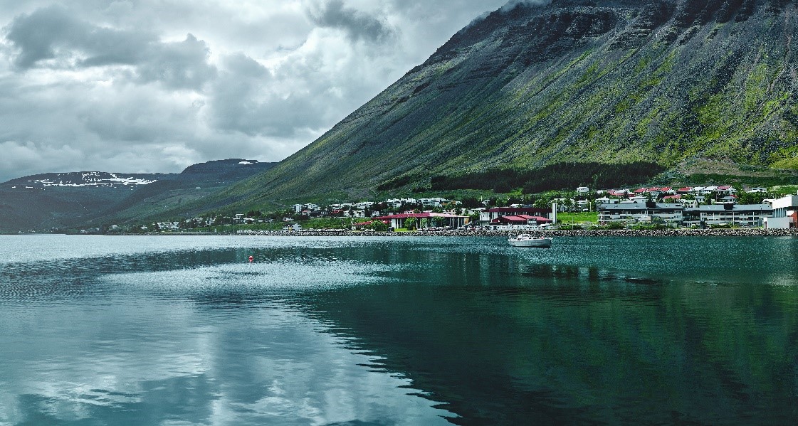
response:
<path fill-rule="evenodd" d="M 282 160 L 505 3 L 0 0 L 0 182 Z"/>

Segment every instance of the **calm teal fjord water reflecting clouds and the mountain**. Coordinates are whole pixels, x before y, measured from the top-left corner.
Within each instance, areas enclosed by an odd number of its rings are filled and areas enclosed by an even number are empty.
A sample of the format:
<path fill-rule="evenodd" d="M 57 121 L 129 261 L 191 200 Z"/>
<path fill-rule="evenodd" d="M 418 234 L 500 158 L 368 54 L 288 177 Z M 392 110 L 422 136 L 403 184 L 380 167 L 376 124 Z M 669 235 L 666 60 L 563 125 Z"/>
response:
<path fill-rule="evenodd" d="M 0 236 L 0 424 L 795 424 L 796 258 L 792 238 Z"/>

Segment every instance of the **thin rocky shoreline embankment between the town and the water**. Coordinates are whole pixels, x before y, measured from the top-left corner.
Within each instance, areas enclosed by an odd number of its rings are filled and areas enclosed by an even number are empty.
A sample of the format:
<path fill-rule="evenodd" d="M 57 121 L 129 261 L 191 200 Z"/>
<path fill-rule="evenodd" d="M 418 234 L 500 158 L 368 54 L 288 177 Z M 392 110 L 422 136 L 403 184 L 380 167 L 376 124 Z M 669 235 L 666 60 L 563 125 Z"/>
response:
<path fill-rule="evenodd" d="M 542 237 L 798 237 L 798 229 L 601 229 L 578 231 L 239 231 L 227 233 L 176 232 L 144 235 L 239 235 L 273 237 L 508 237 L 530 234 Z M 123 234 L 141 235 L 141 234 Z"/>

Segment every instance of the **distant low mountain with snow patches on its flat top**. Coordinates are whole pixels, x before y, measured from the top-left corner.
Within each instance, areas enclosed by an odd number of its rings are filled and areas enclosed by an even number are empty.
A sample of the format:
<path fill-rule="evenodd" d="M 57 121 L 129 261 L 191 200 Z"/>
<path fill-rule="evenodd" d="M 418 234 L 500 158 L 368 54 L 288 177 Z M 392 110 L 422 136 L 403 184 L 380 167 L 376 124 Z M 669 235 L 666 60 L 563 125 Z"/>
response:
<path fill-rule="evenodd" d="M 0 231 L 101 226 L 201 199 L 274 167 L 257 160 L 194 164 L 180 174 L 45 173 L 0 183 Z"/>

